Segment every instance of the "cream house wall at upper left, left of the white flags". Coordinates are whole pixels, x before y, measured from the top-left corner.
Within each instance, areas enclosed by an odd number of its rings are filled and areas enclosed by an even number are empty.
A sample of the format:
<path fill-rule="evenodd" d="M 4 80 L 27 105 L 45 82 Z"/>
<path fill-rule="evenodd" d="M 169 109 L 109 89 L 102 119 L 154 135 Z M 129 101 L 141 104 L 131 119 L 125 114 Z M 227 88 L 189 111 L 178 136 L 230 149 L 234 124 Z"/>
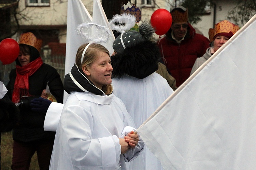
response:
<path fill-rule="evenodd" d="M 58 30 L 57 41 L 66 43 L 67 0 L 50 0 L 50 6 L 26 6 L 26 0 L 20 0 L 16 11 L 22 30 Z"/>

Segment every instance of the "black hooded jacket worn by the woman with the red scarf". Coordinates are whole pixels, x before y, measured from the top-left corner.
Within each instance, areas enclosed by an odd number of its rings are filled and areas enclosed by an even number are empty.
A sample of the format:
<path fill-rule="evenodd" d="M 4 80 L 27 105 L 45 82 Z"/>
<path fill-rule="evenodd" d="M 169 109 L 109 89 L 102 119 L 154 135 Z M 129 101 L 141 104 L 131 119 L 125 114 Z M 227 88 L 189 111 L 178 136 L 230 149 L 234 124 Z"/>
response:
<path fill-rule="evenodd" d="M 40 57 L 37 49 L 32 46 L 28 47 L 30 49 L 30 62 Z M 16 59 L 16 64 L 21 66 L 18 59 Z M 6 86 L 8 89 L 7 95 L 10 99 L 12 98 L 16 76 L 16 69 L 13 69 L 9 75 L 10 81 Z M 28 142 L 42 139 L 54 139 L 54 132 L 47 132 L 43 129 L 45 115 L 32 111 L 29 105 L 30 100 L 41 96 L 47 83 L 51 93 L 57 99 L 57 102 L 63 102 L 63 84 L 60 75 L 55 68 L 43 63 L 42 66 L 29 77 L 29 94 L 31 97 L 28 97 L 26 104 L 23 104 L 20 108 L 20 119 L 18 125 L 13 129 L 14 140 Z"/>

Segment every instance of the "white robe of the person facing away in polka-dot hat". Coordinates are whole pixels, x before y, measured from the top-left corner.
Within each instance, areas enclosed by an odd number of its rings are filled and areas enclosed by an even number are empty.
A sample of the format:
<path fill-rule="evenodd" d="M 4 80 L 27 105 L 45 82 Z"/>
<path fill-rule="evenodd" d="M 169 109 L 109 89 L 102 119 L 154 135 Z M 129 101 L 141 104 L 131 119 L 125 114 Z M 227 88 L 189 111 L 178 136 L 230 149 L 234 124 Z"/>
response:
<path fill-rule="evenodd" d="M 136 128 L 139 128 L 173 93 L 167 81 L 156 72 L 144 79 L 137 79 L 128 75 L 120 79 L 113 78 L 112 84 L 114 94 L 124 102 Z M 139 157 L 127 164 L 127 169 L 159 170 L 162 169 L 162 166 L 156 156 L 144 146 L 144 151 Z"/>

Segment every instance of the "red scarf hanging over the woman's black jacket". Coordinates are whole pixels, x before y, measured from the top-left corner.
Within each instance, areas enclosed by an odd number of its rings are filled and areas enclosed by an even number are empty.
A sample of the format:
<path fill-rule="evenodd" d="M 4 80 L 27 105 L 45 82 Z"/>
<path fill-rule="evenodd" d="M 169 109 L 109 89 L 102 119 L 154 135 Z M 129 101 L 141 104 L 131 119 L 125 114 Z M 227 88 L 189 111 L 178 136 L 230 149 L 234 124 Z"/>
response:
<path fill-rule="evenodd" d="M 16 79 L 14 83 L 14 89 L 12 94 L 12 101 L 18 103 L 20 97 L 31 96 L 29 94 L 28 77 L 34 74 L 43 64 L 41 57 L 38 57 L 34 61 L 28 63 L 25 66 L 16 65 Z"/>

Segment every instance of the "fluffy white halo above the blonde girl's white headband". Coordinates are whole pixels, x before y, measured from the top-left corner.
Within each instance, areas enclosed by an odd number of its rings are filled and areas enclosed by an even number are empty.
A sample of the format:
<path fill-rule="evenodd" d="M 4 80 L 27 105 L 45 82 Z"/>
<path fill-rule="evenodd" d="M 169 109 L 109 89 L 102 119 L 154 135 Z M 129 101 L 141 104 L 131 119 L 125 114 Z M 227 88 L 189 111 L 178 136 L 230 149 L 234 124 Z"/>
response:
<path fill-rule="evenodd" d="M 81 34 L 88 43 L 108 43 L 111 37 L 111 30 L 97 23 L 88 22 L 77 26 L 78 34 Z"/>

